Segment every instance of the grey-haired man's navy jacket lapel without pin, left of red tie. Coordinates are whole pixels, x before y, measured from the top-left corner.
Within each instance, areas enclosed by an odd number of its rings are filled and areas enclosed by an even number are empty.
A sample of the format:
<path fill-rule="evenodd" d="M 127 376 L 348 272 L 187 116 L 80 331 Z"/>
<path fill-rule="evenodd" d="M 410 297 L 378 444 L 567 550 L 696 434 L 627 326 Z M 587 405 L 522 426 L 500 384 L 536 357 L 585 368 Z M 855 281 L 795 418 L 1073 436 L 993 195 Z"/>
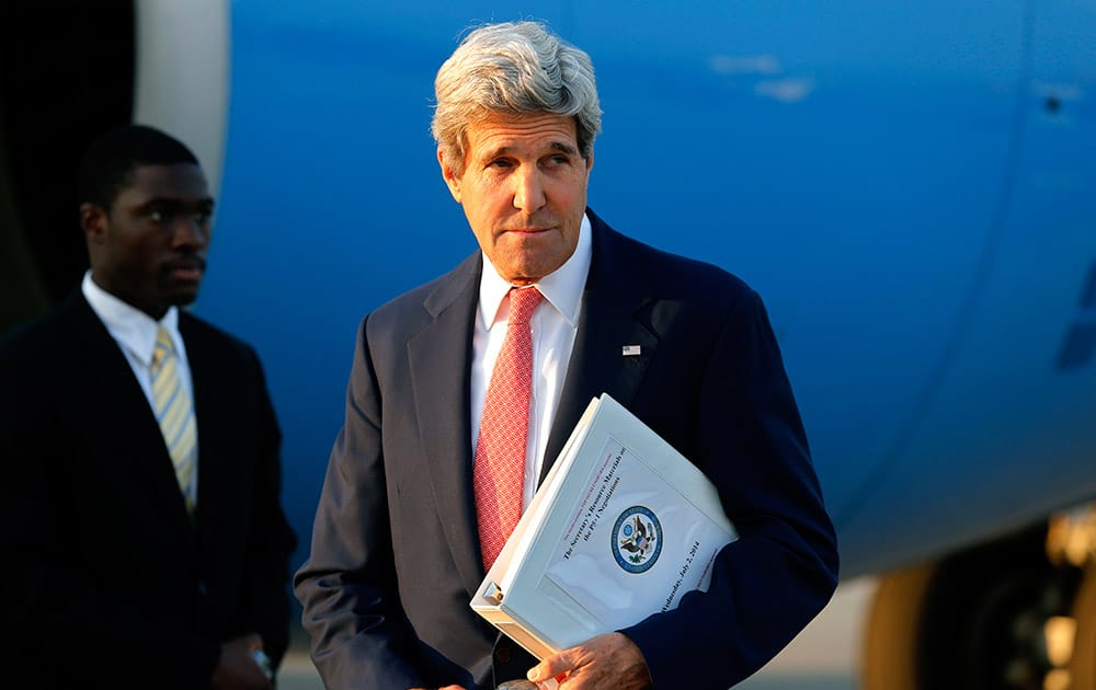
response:
<path fill-rule="evenodd" d="M 468 594 L 483 579 L 472 494 L 471 330 L 479 300 L 477 252 L 423 302 L 433 321 L 408 342 L 411 389 L 431 488 L 453 561 Z"/>

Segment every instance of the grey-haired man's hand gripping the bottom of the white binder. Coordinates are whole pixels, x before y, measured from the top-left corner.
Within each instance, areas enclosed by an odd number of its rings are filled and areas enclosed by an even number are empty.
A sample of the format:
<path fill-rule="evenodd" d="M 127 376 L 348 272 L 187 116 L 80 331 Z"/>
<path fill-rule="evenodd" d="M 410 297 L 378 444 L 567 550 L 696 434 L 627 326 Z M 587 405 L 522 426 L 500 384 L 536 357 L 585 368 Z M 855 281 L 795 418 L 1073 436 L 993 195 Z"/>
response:
<path fill-rule="evenodd" d="M 651 687 L 643 653 L 621 633 L 591 637 L 553 654 L 529 670 L 529 680 L 544 682 L 567 674 L 567 690 L 642 690 Z"/>

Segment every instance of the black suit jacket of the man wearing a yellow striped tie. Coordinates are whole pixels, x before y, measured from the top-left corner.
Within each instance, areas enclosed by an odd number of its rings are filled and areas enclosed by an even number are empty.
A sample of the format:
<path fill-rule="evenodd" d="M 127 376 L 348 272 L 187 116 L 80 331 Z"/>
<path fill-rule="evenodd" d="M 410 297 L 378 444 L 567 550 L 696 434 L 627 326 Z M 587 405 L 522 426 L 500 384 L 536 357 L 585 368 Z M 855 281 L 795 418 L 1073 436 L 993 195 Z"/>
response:
<path fill-rule="evenodd" d="M 0 668 L 18 687 L 207 688 L 220 642 L 281 659 L 295 538 L 255 353 L 181 312 L 196 524 L 136 377 L 77 294 L 0 345 Z M 13 687 L 15 687 L 13 686 Z"/>

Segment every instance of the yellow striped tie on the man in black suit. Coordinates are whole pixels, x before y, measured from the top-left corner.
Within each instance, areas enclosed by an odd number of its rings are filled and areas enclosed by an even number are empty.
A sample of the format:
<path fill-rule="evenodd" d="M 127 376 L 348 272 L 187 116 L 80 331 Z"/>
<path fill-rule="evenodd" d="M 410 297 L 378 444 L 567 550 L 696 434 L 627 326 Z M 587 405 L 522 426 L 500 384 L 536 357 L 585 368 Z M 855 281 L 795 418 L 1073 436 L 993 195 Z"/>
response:
<path fill-rule="evenodd" d="M 163 326 L 156 332 L 156 349 L 152 350 L 152 406 L 156 419 L 163 433 L 163 442 L 175 465 L 179 488 L 186 501 L 186 510 L 192 516 L 197 504 L 197 486 L 194 482 L 194 467 L 197 462 L 197 430 L 194 423 L 194 405 L 190 393 L 179 379 L 175 365 L 175 347 Z"/>

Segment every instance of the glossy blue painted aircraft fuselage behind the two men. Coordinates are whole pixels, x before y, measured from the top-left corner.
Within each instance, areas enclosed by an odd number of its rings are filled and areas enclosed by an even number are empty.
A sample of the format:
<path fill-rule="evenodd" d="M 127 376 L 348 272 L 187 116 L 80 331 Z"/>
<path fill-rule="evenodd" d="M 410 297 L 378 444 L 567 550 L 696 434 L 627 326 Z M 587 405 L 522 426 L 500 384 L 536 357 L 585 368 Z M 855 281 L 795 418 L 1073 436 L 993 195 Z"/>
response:
<path fill-rule="evenodd" d="M 591 206 L 764 297 L 846 576 L 1096 496 L 1077 308 L 1096 10 L 596 5 L 231 3 L 197 311 L 266 365 L 298 563 L 357 324 L 476 248 L 430 137 L 434 72 L 469 24 L 530 12 L 597 69 Z M 1081 354 L 1063 368 L 1066 334 Z"/>

